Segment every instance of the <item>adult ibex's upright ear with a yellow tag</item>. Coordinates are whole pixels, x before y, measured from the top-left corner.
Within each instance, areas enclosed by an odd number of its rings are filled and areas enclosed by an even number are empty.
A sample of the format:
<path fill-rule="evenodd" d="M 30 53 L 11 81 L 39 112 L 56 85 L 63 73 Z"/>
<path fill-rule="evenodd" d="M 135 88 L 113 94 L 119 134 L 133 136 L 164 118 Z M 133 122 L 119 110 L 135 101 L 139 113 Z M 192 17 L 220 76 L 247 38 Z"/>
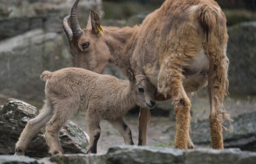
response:
<path fill-rule="evenodd" d="M 94 10 L 90 11 L 88 23 L 86 27 L 91 27 L 92 32 L 94 32 L 95 34 L 99 34 L 101 32 L 104 33 L 104 29 L 102 28 L 101 22 L 100 22 L 100 16 Z"/>

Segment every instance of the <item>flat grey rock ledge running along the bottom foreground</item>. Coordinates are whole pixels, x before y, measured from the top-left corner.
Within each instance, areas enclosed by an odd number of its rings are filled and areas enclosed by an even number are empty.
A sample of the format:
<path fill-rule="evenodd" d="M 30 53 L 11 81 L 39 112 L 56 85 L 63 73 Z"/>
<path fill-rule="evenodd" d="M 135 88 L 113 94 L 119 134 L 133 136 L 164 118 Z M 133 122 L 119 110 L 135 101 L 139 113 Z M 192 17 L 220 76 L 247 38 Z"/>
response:
<path fill-rule="evenodd" d="M 0 156 L 0 162 L 22 163 L 255 163 L 256 153 L 240 151 L 239 149 L 213 150 L 209 148 L 196 148 L 193 150 L 178 150 L 175 148 L 115 146 L 103 155 L 63 155 L 35 160 L 28 157 Z"/>

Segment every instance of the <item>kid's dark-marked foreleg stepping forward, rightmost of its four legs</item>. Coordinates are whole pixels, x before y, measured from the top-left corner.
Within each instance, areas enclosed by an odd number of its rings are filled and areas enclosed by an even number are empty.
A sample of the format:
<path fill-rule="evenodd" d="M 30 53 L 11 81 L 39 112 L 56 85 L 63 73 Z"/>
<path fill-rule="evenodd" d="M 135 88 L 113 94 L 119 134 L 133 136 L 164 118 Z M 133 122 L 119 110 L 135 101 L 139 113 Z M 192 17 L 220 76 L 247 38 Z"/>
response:
<path fill-rule="evenodd" d="M 110 122 L 120 132 L 120 134 L 124 138 L 125 143 L 127 145 L 134 145 L 134 141 L 132 141 L 132 136 L 131 136 L 131 129 L 124 122 L 124 118 L 118 118 L 117 120 L 112 120 Z"/>

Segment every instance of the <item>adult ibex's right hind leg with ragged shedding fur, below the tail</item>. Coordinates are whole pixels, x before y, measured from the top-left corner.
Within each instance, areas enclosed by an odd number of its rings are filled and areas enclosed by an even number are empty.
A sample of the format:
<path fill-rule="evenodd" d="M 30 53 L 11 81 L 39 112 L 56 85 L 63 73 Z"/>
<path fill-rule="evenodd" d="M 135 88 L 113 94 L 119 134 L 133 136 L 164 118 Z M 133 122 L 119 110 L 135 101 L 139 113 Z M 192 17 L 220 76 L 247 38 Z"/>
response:
<path fill-rule="evenodd" d="M 223 31 L 225 31 L 223 29 Z M 225 36 L 225 34 L 223 35 Z M 223 108 L 223 98 L 228 93 L 228 64 L 229 60 L 225 52 L 227 42 L 221 44 L 220 41 L 227 41 L 227 37 L 219 36 L 215 44 L 209 45 L 209 97 L 210 97 L 210 129 L 211 146 L 213 148 L 223 148 L 222 126 L 223 116 L 228 116 Z M 216 38 L 212 36 L 211 38 Z M 214 40 L 211 40 L 214 43 Z M 231 120 L 229 117 L 226 117 Z"/>

